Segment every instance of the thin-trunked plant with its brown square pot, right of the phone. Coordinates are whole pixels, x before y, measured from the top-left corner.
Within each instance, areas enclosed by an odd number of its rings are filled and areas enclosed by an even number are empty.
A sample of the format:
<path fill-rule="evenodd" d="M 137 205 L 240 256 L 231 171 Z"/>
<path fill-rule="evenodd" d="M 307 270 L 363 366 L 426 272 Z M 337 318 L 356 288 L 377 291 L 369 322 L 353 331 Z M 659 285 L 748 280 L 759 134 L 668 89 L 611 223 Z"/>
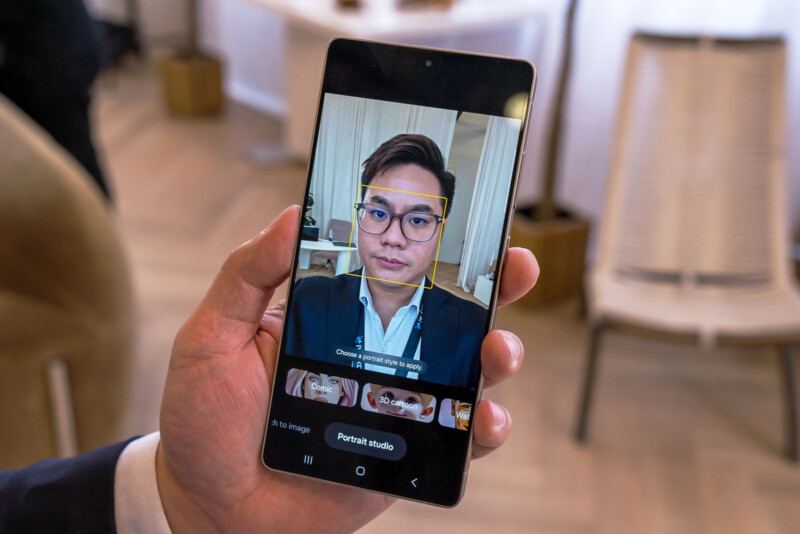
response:
<path fill-rule="evenodd" d="M 556 99 L 548 135 L 544 181 L 538 204 L 517 209 L 511 243 L 529 248 L 539 260 L 541 276 L 536 290 L 520 302 L 537 306 L 582 294 L 589 221 L 558 206 L 555 201 L 559 149 L 566 91 L 572 67 L 575 12 L 578 0 L 570 0 L 564 30 Z"/>

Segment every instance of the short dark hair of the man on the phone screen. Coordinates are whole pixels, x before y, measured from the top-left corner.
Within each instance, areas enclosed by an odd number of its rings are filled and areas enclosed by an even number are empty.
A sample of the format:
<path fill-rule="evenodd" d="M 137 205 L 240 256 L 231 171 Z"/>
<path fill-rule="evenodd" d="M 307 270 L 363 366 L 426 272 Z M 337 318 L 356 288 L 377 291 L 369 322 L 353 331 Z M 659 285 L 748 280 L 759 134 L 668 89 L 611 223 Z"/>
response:
<path fill-rule="evenodd" d="M 444 217 L 453 207 L 453 195 L 456 192 L 456 176 L 444 168 L 442 151 L 430 137 L 416 134 L 395 135 L 364 160 L 364 172 L 361 173 L 361 185 L 369 185 L 378 174 L 389 170 L 395 165 L 412 163 L 429 171 L 439 181 L 440 196 L 447 199 Z M 361 199 L 367 193 L 367 188 L 361 188 Z"/>

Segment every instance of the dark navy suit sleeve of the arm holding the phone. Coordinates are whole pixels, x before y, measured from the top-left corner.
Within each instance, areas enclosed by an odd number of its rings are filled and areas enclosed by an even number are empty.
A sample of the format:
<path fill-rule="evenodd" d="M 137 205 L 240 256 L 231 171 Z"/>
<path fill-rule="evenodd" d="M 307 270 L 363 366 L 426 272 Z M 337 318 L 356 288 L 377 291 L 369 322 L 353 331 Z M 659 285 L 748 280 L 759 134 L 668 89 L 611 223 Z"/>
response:
<path fill-rule="evenodd" d="M 114 472 L 128 443 L 0 472 L 0 532 L 115 533 Z"/>

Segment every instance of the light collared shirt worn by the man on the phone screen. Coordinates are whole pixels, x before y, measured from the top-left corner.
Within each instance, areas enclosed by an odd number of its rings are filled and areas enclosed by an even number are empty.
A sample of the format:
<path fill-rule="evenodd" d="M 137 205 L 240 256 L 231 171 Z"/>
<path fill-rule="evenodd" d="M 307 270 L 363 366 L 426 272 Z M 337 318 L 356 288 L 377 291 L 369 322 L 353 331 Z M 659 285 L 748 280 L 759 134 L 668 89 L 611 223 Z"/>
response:
<path fill-rule="evenodd" d="M 358 292 L 358 300 L 364 306 L 364 349 L 372 352 L 380 352 L 382 354 L 389 354 L 391 356 L 402 356 L 403 351 L 408 343 L 408 336 L 411 335 L 411 329 L 417 320 L 419 313 L 419 306 L 422 302 L 422 292 L 425 290 L 425 277 L 419 284 L 419 287 L 411 297 L 411 301 L 394 314 L 392 320 L 389 321 L 389 327 L 384 332 L 383 323 L 375 308 L 372 306 L 372 295 L 369 293 L 367 286 L 367 278 L 361 277 L 361 289 Z M 417 350 L 414 353 L 414 359 L 419 360 L 419 348 L 422 344 L 422 339 L 417 344 Z M 367 371 L 376 371 L 378 373 L 386 373 L 389 375 L 395 374 L 396 369 L 391 367 L 384 367 L 382 365 L 374 365 L 371 363 L 364 364 L 364 369 Z M 419 373 L 408 373 L 408 378 L 417 379 Z"/>

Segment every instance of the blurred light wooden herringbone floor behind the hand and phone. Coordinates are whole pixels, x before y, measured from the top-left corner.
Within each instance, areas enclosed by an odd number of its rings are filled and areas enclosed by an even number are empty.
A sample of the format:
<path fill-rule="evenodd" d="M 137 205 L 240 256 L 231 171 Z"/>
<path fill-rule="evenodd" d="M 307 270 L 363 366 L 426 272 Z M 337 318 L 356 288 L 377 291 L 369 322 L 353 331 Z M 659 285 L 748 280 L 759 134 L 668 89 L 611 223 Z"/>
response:
<path fill-rule="evenodd" d="M 302 195 L 305 167 L 254 164 L 280 123 L 231 104 L 210 120 L 168 118 L 147 68 L 98 86 L 97 139 L 116 189 L 141 336 L 130 433 L 158 427 L 172 339 L 229 250 Z M 487 396 L 514 432 L 472 464 L 454 510 L 399 503 L 362 532 L 795 534 L 800 467 L 781 456 L 780 390 L 768 350 L 714 350 L 609 336 L 591 442 L 569 432 L 585 328 L 574 305 L 506 309 L 527 348 Z M 321 526 L 324 522 L 321 521 Z"/>

